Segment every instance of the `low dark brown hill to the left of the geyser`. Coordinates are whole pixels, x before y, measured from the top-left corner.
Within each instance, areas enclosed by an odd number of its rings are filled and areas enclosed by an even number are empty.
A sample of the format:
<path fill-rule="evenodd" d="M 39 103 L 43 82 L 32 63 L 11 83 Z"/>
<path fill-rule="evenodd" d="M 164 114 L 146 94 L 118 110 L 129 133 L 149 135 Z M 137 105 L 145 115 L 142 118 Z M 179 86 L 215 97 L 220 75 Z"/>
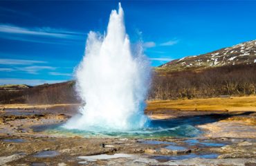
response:
<path fill-rule="evenodd" d="M 0 86 L 0 104 L 62 104 L 77 103 L 75 82 L 68 81 L 39 86 L 3 85 Z"/>

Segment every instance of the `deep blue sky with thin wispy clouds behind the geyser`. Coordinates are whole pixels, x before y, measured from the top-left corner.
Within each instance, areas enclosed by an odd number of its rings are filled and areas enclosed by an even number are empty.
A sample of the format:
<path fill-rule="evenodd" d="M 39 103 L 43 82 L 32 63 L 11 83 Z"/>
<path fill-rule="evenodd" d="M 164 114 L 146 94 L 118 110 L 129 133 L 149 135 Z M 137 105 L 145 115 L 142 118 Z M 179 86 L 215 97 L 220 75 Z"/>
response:
<path fill-rule="evenodd" d="M 152 66 L 256 39 L 256 1 L 121 1 L 132 43 Z M 89 30 L 118 1 L 0 1 L 0 84 L 73 79 Z"/>

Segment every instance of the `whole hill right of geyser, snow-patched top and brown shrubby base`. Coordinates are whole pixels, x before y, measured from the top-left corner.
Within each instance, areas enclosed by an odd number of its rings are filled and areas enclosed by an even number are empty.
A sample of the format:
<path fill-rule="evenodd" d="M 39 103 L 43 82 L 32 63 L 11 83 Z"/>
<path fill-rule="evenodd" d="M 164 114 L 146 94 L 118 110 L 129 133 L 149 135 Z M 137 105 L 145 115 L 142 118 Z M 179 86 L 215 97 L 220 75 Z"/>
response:
<path fill-rule="evenodd" d="M 155 68 L 149 99 L 256 94 L 256 40 Z"/>

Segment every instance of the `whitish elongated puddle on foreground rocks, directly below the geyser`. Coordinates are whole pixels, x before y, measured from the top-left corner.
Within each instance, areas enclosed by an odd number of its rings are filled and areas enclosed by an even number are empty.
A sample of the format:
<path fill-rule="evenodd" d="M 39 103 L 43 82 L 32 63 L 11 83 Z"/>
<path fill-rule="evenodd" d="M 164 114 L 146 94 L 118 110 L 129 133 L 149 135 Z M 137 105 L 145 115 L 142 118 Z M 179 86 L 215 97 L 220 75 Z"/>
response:
<path fill-rule="evenodd" d="M 112 158 L 131 158 L 134 157 L 132 154 L 100 154 L 100 155 L 94 155 L 94 156 L 79 156 L 78 159 L 84 159 L 89 161 L 95 161 L 95 160 L 108 160 Z"/>

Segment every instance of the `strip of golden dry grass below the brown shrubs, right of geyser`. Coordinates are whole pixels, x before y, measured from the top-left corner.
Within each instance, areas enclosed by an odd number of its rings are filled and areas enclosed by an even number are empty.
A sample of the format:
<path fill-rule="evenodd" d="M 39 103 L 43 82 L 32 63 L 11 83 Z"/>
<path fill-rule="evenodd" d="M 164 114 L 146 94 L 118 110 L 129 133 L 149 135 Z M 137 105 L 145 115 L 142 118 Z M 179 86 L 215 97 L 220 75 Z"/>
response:
<path fill-rule="evenodd" d="M 194 100 L 154 100 L 147 102 L 146 110 L 256 111 L 256 96 Z"/>

